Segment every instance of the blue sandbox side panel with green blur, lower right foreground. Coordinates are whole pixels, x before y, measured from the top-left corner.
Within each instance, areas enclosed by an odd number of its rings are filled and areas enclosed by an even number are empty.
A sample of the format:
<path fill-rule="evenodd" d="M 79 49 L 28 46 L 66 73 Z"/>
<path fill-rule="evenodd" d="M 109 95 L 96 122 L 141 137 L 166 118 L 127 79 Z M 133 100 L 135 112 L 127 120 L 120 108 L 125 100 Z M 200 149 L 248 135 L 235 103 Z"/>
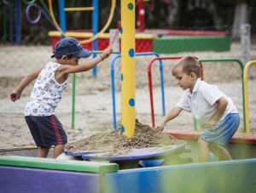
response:
<path fill-rule="evenodd" d="M 105 174 L 105 193 L 256 192 L 256 159 L 143 167 Z"/>

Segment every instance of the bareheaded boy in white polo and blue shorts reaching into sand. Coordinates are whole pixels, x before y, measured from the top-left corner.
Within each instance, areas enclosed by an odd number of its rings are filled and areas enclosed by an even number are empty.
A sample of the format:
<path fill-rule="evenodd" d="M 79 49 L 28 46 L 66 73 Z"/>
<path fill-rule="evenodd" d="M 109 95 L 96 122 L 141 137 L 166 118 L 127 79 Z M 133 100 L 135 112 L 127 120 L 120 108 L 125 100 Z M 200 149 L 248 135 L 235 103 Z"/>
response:
<path fill-rule="evenodd" d="M 166 113 L 157 128 L 164 129 L 181 111 L 192 112 L 196 121 L 205 132 L 198 140 L 198 162 L 210 162 L 210 151 L 219 161 L 232 160 L 224 149 L 236 133 L 240 116 L 232 99 L 218 90 L 217 86 L 201 81 L 200 65 L 197 60 L 183 57 L 172 69 L 172 76 L 177 84 L 185 90 L 182 98 Z"/>

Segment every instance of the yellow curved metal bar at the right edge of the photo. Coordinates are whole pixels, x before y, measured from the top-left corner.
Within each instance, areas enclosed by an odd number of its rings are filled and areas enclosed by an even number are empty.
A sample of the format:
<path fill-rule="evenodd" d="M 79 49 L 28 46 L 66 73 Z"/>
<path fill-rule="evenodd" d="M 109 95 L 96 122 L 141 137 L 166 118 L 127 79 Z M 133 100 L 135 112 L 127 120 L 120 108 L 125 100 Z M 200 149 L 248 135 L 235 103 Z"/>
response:
<path fill-rule="evenodd" d="M 244 105 L 245 105 L 245 119 L 246 119 L 246 130 L 247 134 L 250 134 L 250 124 L 249 124 L 249 109 L 248 109 L 248 76 L 247 71 L 250 65 L 256 65 L 256 60 L 247 62 L 243 70 L 243 83 L 244 83 Z"/>

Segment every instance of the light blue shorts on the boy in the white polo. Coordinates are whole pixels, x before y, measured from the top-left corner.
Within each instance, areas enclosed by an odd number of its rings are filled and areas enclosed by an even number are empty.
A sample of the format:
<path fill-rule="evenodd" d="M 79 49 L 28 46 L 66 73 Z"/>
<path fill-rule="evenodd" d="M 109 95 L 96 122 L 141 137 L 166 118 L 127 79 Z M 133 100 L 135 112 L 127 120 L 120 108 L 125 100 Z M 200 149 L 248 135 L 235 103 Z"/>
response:
<path fill-rule="evenodd" d="M 205 128 L 205 132 L 201 134 L 200 139 L 216 145 L 227 145 L 236 133 L 239 124 L 239 114 L 230 113 L 224 120 L 216 122 L 216 124 L 210 128 Z"/>

